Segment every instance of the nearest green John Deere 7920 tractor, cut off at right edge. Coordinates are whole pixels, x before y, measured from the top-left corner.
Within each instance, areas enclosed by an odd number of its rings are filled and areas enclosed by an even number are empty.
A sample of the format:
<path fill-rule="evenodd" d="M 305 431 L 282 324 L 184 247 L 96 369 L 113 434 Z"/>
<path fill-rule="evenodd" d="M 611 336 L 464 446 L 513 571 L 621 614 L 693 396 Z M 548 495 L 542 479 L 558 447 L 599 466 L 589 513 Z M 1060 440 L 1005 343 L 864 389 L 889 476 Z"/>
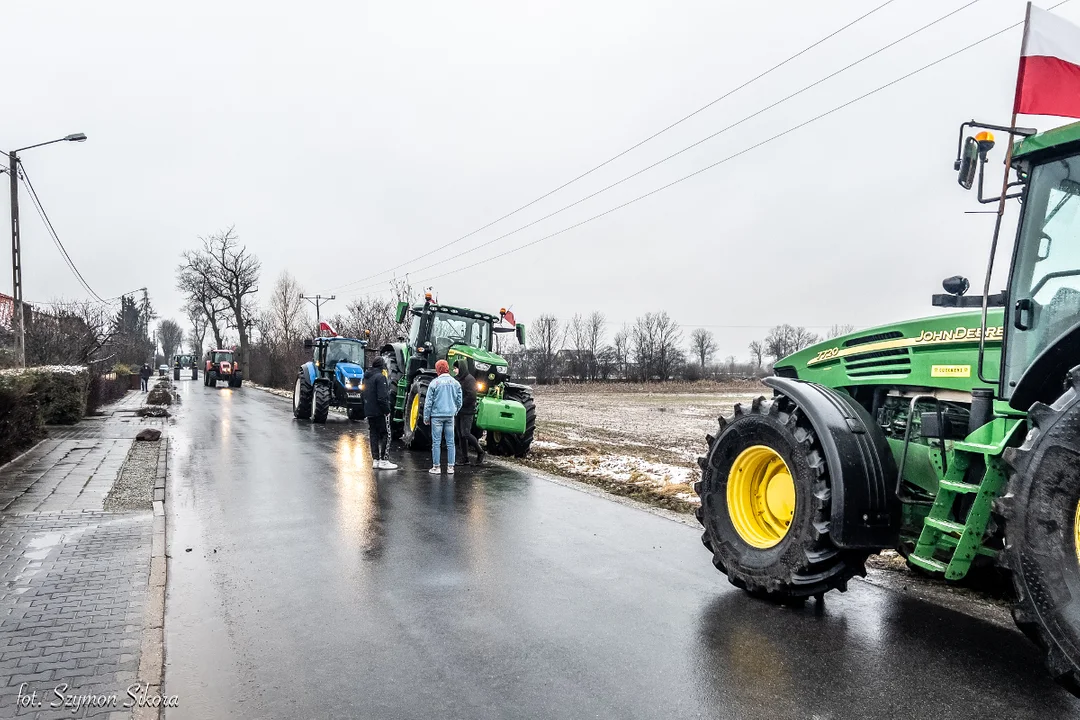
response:
<path fill-rule="evenodd" d="M 1010 134 L 1002 198 L 983 196 L 993 135 L 969 127 Z M 949 581 L 1005 568 L 1016 624 L 1080 694 L 1080 123 L 972 121 L 960 137 L 960 185 L 977 168 L 980 201 L 998 203 L 982 297 L 950 277 L 933 303 L 956 312 L 778 362 L 772 397 L 706 438 L 702 541 L 731 583 L 775 600 L 842 590 L 882 548 Z M 1008 287 L 990 295 L 1013 198 Z"/>

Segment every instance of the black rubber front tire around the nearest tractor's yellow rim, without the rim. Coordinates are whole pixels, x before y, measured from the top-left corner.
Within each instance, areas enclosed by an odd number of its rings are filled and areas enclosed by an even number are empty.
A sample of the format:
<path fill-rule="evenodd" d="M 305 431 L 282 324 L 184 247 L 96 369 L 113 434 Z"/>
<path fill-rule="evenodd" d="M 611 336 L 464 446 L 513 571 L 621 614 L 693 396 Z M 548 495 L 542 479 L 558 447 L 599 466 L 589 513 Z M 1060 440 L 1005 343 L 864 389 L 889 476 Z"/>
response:
<path fill-rule="evenodd" d="M 758 397 L 750 409 L 735 405 L 731 421 L 720 418 L 719 427 L 718 437 L 707 437 L 708 454 L 698 461 L 702 478 L 694 484 L 698 520 L 705 529 L 701 541 L 716 569 L 732 585 L 777 601 L 842 592 L 852 576 L 865 575 L 867 552 L 840 549 L 829 536 L 828 467 L 805 411 L 785 395 Z M 769 547 L 744 539 L 728 506 L 732 465 L 757 446 L 784 461 L 794 485 L 789 525 Z"/>

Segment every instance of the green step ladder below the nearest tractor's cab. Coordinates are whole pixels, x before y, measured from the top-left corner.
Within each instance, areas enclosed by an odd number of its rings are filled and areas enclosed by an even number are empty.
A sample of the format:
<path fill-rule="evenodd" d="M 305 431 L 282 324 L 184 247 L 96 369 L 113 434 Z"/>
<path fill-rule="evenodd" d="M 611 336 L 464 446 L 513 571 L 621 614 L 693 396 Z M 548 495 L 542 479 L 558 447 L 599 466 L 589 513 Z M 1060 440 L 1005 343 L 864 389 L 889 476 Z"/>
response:
<path fill-rule="evenodd" d="M 996 456 L 984 454 L 980 446 L 966 447 L 956 443 L 949 456 L 948 472 L 937 484 L 937 497 L 922 522 L 919 542 L 908 561 L 923 570 L 941 572 L 946 580 L 959 580 L 968 574 L 976 555 L 994 556 L 995 552 L 983 546 L 986 525 L 990 519 L 994 500 L 1005 481 L 1004 468 Z M 978 485 L 964 481 L 971 459 L 982 456 L 986 471 Z M 941 468 L 940 451 L 931 451 L 934 464 Z M 956 499 L 974 495 L 963 522 L 954 518 Z M 947 555 L 948 561 L 937 559 Z"/>

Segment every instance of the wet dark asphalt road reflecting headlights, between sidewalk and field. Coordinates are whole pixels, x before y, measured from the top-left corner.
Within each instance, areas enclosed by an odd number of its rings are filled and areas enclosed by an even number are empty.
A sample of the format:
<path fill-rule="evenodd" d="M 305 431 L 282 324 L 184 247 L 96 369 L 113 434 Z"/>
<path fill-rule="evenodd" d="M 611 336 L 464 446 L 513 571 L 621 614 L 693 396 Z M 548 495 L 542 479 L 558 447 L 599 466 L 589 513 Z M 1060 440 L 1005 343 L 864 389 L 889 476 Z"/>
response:
<path fill-rule="evenodd" d="M 399 448 L 376 476 L 364 423 L 180 393 L 168 720 L 1080 716 L 1013 630 L 860 582 L 772 607 L 678 522 Z"/>

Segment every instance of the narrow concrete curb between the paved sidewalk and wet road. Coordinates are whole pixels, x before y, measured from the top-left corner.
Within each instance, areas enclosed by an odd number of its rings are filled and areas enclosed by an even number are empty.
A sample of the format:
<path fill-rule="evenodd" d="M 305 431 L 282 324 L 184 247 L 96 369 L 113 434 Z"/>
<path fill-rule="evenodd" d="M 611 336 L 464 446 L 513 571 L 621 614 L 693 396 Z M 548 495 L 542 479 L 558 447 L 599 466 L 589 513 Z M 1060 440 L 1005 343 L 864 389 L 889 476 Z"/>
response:
<path fill-rule="evenodd" d="M 158 446 L 158 472 L 153 481 L 153 535 L 150 542 L 150 581 L 147 595 L 143 647 L 136 680 L 149 689 L 149 696 L 161 695 L 165 674 L 165 478 L 168 474 L 168 438 L 162 435 Z M 136 706 L 133 720 L 157 720 L 160 707 Z"/>

